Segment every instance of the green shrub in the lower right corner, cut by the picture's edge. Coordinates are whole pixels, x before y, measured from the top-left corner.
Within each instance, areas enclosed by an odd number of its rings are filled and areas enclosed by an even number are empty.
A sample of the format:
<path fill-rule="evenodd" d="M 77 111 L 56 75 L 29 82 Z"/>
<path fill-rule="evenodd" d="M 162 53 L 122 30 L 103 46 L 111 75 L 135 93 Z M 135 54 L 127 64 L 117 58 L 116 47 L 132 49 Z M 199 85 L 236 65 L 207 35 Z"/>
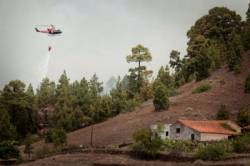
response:
<path fill-rule="evenodd" d="M 233 141 L 233 149 L 237 153 L 250 152 L 250 134 L 245 134 Z"/>

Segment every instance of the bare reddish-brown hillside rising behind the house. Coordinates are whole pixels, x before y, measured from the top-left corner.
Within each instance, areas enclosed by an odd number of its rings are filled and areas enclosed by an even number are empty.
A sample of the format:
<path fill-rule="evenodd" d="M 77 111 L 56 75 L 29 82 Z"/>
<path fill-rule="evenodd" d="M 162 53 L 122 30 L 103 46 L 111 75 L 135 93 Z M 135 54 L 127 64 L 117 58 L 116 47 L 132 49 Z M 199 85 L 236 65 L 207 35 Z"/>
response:
<path fill-rule="evenodd" d="M 136 111 L 120 114 L 107 121 L 94 125 L 93 143 L 107 146 L 130 143 L 135 129 L 149 127 L 152 123 L 173 123 L 179 118 L 214 119 L 221 104 L 225 104 L 235 120 L 242 106 L 250 106 L 250 94 L 244 93 L 244 83 L 250 73 L 250 52 L 242 58 L 242 72 L 235 75 L 226 66 L 214 72 L 201 82 L 190 82 L 178 89 L 178 95 L 170 98 L 167 111 L 155 112 L 152 102 L 144 103 Z M 192 94 L 192 90 L 203 82 L 212 89 L 205 93 Z M 90 145 L 91 126 L 68 133 L 69 145 Z M 41 147 L 43 142 L 36 143 Z"/>

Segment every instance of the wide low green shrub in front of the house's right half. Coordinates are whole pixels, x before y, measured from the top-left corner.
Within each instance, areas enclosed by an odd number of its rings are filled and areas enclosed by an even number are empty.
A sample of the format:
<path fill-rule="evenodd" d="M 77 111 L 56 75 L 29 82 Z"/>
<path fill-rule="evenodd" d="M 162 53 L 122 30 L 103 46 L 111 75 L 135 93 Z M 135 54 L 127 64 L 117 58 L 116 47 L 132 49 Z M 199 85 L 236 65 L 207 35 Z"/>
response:
<path fill-rule="evenodd" d="M 195 154 L 195 157 L 202 160 L 222 160 L 228 157 L 229 150 L 228 144 L 224 142 L 218 142 L 214 144 L 208 144 L 201 147 Z"/>

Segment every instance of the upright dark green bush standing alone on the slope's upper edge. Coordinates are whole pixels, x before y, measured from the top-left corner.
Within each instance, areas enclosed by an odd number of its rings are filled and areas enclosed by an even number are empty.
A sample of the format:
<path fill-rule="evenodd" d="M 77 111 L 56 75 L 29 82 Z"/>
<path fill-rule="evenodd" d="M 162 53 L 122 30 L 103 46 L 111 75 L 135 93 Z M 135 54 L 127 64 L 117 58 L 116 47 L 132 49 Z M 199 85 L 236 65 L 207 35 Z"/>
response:
<path fill-rule="evenodd" d="M 158 82 L 154 88 L 154 100 L 153 100 L 155 110 L 163 110 L 169 108 L 168 92 L 166 87 Z"/>

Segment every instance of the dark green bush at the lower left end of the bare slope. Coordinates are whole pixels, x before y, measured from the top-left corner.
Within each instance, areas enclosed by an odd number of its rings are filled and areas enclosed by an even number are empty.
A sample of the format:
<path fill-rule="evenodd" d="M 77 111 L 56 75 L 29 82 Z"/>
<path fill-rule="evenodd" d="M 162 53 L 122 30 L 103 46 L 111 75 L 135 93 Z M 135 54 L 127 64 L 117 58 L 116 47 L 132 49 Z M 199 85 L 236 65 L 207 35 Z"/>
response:
<path fill-rule="evenodd" d="M 62 128 L 50 129 L 45 136 L 45 142 L 52 142 L 55 147 L 62 147 L 67 143 L 66 133 Z"/>

